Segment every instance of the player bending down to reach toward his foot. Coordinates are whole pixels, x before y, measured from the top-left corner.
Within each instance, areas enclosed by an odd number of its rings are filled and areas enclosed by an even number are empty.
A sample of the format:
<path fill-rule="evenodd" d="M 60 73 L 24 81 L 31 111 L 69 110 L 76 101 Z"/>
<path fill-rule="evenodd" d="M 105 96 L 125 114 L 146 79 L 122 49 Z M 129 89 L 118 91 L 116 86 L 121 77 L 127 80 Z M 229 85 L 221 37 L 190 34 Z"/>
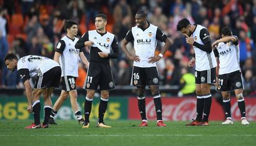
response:
<path fill-rule="evenodd" d="M 49 128 L 49 116 L 52 110 L 50 95 L 54 87 L 59 87 L 61 79 L 61 67 L 54 60 L 38 55 L 27 55 L 18 60 L 15 54 L 7 54 L 4 59 L 9 70 L 18 70 L 20 78 L 25 86 L 28 100 L 28 112 L 33 112 L 34 123 L 25 128 Z M 35 79 L 35 87 L 32 91 L 29 79 Z M 45 120 L 40 125 L 40 95 L 43 94 L 45 101 Z"/>

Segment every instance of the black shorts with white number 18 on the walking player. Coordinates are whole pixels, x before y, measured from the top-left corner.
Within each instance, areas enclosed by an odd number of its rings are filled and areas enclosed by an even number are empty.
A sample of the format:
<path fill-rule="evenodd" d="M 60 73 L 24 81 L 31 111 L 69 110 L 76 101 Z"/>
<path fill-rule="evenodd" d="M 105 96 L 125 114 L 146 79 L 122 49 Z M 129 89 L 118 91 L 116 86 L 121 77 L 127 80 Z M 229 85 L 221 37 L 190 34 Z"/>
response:
<path fill-rule="evenodd" d="M 75 79 L 77 78 L 74 76 L 62 76 L 61 77 L 62 90 L 72 91 L 74 89 L 77 89 L 77 87 L 75 86 Z"/>

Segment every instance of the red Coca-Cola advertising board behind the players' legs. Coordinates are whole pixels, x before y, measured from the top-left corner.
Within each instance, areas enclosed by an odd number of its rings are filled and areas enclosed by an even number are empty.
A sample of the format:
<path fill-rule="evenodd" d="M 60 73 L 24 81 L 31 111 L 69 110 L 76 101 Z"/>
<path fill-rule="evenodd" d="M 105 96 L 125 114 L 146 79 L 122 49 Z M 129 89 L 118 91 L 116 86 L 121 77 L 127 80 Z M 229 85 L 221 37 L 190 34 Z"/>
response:
<path fill-rule="evenodd" d="M 210 120 L 224 120 L 224 112 L 221 105 L 212 100 Z M 165 121 L 188 121 L 196 116 L 197 99 L 189 98 L 162 98 L 163 120 Z M 246 116 L 249 121 L 256 121 L 256 98 L 245 99 Z M 130 120 L 140 120 L 137 98 L 129 98 Z M 153 98 L 146 99 L 146 113 L 148 120 L 156 120 L 156 112 Z M 237 100 L 231 99 L 231 113 L 234 120 L 240 120 L 241 114 L 237 106 Z"/>

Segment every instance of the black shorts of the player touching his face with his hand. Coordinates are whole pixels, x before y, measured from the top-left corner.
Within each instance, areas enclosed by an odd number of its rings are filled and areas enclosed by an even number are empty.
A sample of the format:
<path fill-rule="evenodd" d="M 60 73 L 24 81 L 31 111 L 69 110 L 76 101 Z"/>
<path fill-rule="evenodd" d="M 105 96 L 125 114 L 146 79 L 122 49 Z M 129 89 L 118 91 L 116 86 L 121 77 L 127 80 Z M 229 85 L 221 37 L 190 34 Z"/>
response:
<path fill-rule="evenodd" d="M 216 67 L 209 70 L 195 70 L 195 84 L 214 84 L 216 83 Z"/>

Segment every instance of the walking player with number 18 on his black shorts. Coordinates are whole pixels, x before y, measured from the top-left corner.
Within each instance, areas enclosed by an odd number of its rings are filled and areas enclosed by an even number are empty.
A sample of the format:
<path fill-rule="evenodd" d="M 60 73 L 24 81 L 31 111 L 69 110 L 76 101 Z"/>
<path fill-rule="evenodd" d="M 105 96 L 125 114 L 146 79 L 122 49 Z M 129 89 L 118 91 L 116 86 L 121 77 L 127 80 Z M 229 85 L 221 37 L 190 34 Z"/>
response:
<path fill-rule="evenodd" d="M 58 100 L 54 103 L 51 112 L 50 124 L 57 124 L 54 122 L 54 116 L 57 115 L 59 108 L 61 108 L 64 100 L 70 96 L 71 107 L 80 124 L 83 123 L 82 113 L 77 104 L 77 89 L 75 87 L 75 79 L 78 77 L 79 59 L 83 64 L 88 65 L 88 61 L 83 54 L 83 49 L 76 49 L 75 43 L 79 40 L 77 36 L 77 22 L 74 20 L 67 20 L 64 23 L 64 30 L 67 32 L 59 41 L 54 54 L 54 60 L 61 65 L 61 84 L 62 91 Z"/>

